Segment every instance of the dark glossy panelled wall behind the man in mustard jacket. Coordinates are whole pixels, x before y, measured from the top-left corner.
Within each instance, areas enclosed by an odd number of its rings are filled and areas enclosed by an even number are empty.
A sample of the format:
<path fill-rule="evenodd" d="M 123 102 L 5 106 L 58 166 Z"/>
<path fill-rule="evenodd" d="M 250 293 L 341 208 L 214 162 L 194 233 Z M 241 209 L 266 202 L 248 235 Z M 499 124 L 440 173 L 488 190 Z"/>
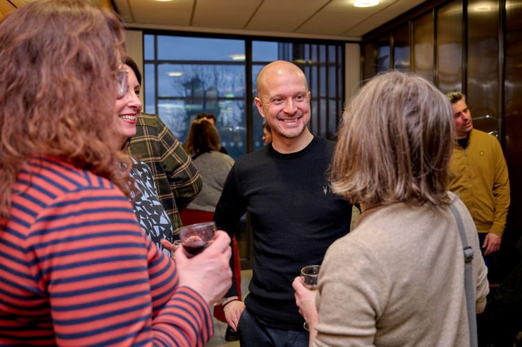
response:
<path fill-rule="evenodd" d="M 419 72 L 429 78 L 429 49 L 422 51 L 421 61 L 416 45 L 420 41 L 429 45 L 430 20 L 435 30 L 436 86 L 442 92 L 459 90 L 467 95 L 474 127 L 498 136 L 507 161 L 511 206 L 498 253 L 500 266 L 491 269 L 498 280 L 522 255 L 522 1 L 425 1 L 363 37 L 365 78 L 375 65 L 378 73 L 390 67 L 416 71 L 420 63 L 427 63 Z M 407 26 L 412 42 L 404 47 Z M 425 35 L 416 32 L 421 28 Z M 404 52 L 399 48 L 413 49 L 411 66 L 402 62 Z"/>

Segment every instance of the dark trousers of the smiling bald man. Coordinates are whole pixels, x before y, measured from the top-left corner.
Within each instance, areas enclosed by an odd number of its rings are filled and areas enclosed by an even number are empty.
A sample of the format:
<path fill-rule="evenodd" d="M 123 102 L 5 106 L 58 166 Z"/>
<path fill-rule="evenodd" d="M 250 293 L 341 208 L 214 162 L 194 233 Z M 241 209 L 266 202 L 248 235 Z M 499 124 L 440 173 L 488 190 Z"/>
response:
<path fill-rule="evenodd" d="M 239 344 L 242 347 L 308 347 L 310 335 L 306 331 L 271 328 L 258 321 L 244 309 L 237 324 Z"/>

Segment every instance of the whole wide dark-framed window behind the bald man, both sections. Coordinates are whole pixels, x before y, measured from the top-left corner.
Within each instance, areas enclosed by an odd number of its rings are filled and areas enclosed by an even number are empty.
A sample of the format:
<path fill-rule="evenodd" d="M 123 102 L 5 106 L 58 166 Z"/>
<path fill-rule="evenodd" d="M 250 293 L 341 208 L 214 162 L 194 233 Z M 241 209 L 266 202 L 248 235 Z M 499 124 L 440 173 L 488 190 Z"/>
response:
<path fill-rule="evenodd" d="M 221 144 L 233 158 L 263 147 L 263 119 L 253 104 L 256 77 L 264 65 L 278 59 L 296 63 L 308 78 L 310 130 L 335 136 L 344 95 L 343 42 L 317 45 L 146 33 L 143 47 L 145 112 L 157 113 L 182 142 L 195 115 L 209 112 L 216 116 Z M 252 81 L 251 88 L 247 81 Z"/>

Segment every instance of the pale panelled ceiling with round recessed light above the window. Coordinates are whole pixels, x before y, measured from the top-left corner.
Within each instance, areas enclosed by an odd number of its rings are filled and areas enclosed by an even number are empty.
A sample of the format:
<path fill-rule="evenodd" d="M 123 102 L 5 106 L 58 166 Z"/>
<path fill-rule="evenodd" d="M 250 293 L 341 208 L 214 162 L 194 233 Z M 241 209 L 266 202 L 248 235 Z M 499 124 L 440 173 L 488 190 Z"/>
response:
<path fill-rule="evenodd" d="M 423 0 L 112 0 L 131 29 L 360 40 Z"/>

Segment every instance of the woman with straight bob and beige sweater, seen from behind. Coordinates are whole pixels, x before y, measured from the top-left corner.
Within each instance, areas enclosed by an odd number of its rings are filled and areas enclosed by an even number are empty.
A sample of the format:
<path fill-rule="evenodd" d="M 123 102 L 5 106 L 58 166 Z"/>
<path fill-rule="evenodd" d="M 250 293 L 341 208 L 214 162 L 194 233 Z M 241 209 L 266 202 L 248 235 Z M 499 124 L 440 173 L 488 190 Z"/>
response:
<path fill-rule="evenodd" d="M 310 346 L 470 344 L 463 248 L 450 204 L 480 252 L 470 214 L 446 191 L 452 123 L 445 95 L 400 72 L 376 76 L 347 107 L 331 184 L 363 213 L 326 252 L 317 298 L 294 280 Z M 482 257 L 472 266 L 482 312 L 487 268 Z"/>

